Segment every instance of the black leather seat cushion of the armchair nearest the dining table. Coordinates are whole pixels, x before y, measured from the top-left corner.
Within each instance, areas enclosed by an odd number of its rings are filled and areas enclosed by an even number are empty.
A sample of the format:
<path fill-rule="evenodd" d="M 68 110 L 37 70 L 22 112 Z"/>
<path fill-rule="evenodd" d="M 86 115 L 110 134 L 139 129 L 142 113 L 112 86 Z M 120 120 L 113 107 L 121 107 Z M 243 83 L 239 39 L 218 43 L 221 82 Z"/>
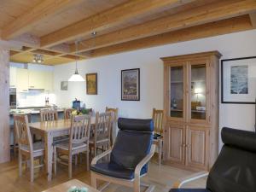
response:
<path fill-rule="evenodd" d="M 96 165 L 90 166 L 90 170 L 97 172 L 109 177 L 123 178 L 123 179 L 133 179 L 134 170 L 125 169 L 122 166 L 119 166 L 114 163 L 97 163 Z M 145 174 L 148 171 L 147 166 L 144 166 L 141 175 Z"/>

